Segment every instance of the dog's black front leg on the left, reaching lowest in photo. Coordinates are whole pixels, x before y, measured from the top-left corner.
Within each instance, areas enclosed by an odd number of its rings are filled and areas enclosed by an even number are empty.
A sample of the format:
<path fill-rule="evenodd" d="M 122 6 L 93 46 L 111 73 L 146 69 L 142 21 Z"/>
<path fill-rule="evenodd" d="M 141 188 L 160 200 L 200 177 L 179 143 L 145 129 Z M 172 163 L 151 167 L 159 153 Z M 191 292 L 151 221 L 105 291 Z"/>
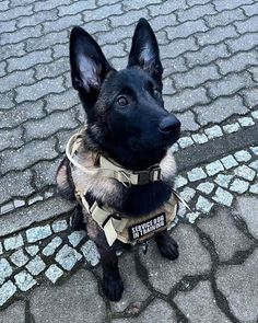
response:
<path fill-rule="evenodd" d="M 118 269 L 116 247 L 102 242 L 97 246 L 103 268 L 103 292 L 110 301 L 119 301 L 124 291 L 124 284 Z"/>

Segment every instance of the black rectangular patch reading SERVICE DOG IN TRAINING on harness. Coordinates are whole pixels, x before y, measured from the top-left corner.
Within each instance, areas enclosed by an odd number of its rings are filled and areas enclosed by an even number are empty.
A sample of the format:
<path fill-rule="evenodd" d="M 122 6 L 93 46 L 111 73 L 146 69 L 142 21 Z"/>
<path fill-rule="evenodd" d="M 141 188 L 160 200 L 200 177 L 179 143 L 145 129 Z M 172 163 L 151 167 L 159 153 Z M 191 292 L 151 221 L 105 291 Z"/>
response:
<path fill-rule="evenodd" d="M 137 223 L 128 228 L 128 234 L 131 240 L 138 240 L 151 232 L 166 228 L 166 215 L 162 212 L 146 221 Z"/>

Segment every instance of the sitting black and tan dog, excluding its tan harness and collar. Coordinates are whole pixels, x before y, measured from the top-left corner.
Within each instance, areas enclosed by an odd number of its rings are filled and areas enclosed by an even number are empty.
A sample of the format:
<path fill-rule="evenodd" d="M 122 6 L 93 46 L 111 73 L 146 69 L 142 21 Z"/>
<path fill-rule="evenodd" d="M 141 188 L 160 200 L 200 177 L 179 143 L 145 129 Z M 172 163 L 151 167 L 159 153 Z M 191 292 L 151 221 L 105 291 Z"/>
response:
<path fill-rule="evenodd" d="M 162 180 L 145 185 L 125 186 L 108 177 L 72 172 L 64 158 L 57 183 L 60 194 L 74 198 L 75 182 L 85 187 L 85 200 L 107 206 L 128 218 L 137 218 L 157 209 L 168 200 L 176 165 L 168 148 L 179 138 L 180 123 L 164 109 L 162 100 L 163 67 L 155 35 L 141 19 L 132 38 L 129 62 L 117 71 L 106 60 L 96 42 L 81 27 L 70 37 L 72 85 L 78 90 L 86 112 L 86 126 L 81 131 L 82 147 L 77 159 L 85 166 L 90 154 L 102 154 L 131 171 L 160 164 Z M 93 166 L 91 164 L 91 166 Z M 108 245 L 104 231 L 78 205 L 73 227 L 85 220 L 89 237 L 95 241 L 103 267 L 103 290 L 109 300 L 119 300 L 124 290 L 116 256 L 117 242 Z M 161 254 L 169 259 L 178 256 L 177 244 L 166 230 L 155 235 Z"/>

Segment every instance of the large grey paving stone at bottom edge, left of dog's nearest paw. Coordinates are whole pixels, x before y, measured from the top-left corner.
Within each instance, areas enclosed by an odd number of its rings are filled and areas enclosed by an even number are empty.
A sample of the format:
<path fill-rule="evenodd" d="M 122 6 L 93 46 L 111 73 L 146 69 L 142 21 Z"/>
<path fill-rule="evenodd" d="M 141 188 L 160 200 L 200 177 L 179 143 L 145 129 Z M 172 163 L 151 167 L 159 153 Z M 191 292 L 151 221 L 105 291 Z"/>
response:
<path fill-rule="evenodd" d="M 30 302 L 35 321 L 40 323 L 74 322 L 74 318 L 77 322 L 102 322 L 105 318 L 105 303 L 98 296 L 97 284 L 93 275 L 83 269 L 62 286 L 35 289 Z"/>

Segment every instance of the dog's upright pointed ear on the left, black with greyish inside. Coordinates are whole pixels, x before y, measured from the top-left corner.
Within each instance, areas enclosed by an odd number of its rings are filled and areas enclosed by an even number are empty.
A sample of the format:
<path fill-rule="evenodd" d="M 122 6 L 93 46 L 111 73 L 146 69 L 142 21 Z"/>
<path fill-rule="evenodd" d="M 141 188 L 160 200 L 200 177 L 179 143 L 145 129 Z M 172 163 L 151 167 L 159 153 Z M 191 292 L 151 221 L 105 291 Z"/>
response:
<path fill-rule="evenodd" d="M 83 28 L 75 26 L 70 35 L 70 65 L 72 85 L 78 91 L 98 93 L 110 65 L 101 47 Z"/>

